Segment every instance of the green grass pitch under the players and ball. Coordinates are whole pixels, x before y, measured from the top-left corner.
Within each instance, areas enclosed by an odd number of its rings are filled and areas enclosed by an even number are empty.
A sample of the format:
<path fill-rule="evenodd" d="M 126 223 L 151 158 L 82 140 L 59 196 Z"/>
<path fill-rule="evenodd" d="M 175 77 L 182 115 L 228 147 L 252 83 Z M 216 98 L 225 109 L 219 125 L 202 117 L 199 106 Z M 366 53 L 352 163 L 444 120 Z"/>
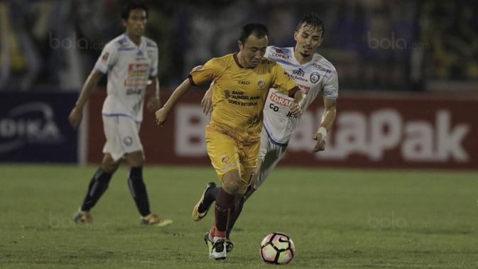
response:
<path fill-rule="evenodd" d="M 227 260 L 210 260 L 192 207 L 212 168 L 146 167 L 151 208 L 174 220 L 140 226 L 120 168 L 92 210 L 71 216 L 95 167 L 0 165 L 0 268 L 271 268 L 259 243 L 295 242 L 288 268 L 477 268 L 478 172 L 278 168 L 246 203 Z"/>

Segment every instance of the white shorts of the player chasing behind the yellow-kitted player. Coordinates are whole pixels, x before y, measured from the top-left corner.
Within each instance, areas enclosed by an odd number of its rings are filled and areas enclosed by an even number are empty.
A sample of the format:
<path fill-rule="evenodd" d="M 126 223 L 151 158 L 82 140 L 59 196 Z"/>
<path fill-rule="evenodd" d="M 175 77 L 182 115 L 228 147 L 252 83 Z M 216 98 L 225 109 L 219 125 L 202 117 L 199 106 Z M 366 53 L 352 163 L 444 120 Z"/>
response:
<path fill-rule="evenodd" d="M 288 144 L 276 143 L 268 137 L 266 128 L 262 128 L 261 132 L 261 148 L 259 148 L 259 158 L 257 159 L 257 180 L 252 187 L 259 187 L 266 181 L 267 176 L 276 167 L 284 153 L 286 153 Z"/>

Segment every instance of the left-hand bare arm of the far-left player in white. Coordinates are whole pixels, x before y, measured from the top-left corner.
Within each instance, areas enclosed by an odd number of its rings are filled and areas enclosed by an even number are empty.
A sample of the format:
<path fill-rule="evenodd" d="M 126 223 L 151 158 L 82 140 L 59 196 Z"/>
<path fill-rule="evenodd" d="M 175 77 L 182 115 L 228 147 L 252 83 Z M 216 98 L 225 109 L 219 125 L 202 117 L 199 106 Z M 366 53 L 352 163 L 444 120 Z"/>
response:
<path fill-rule="evenodd" d="M 93 69 L 92 72 L 89 73 L 89 76 L 87 77 L 87 80 L 83 85 L 80 97 L 78 97 L 75 107 L 73 107 L 72 111 L 70 112 L 70 115 L 68 116 L 68 120 L 70 121 L 70 124 L 73 128 L 76 129 L 78 128 L 78 126 L 80 126 L 80 123 L 83 118 L 83 107 L 85 106 L 86 102 L 89 99 L 89 96 L 93 92 L 93 89 L 97 86 L 98 80 L 102 76 L 103 73 L 99 72 L 99 70 L 96 69 Z"/>

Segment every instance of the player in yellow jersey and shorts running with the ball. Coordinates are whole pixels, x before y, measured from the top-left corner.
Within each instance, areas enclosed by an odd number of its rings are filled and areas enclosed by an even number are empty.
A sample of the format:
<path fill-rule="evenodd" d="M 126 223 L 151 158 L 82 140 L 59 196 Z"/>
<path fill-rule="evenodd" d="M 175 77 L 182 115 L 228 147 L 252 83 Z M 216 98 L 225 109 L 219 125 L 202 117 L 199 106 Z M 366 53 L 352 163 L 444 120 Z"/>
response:
<path fill-rule="evenodd" d="M 235 202 L 249 187 L 256 169 L 262 128 L 262 109 L 268 89 L 273 87 L 288 93 L 294 101 L 290 111 L 300 114 L 304 94 L 283 68 L 264 58 L 268 45 L 268 30 L 259 23 L 241 29 L 239 53 L 212 58 L 195 68 L 188 79 L 175 89 L 162 109 L 156 111 L 156 121 L 163 125 L 169 111 L 192 85 L 214 82 L 213 111 L 206 126 L 207 154 L 217 172 L 222 187 L 216 197 L 215 224 L 210 231 L 210 258 L 225 259 L 226 231 L 234 213 Z"/>

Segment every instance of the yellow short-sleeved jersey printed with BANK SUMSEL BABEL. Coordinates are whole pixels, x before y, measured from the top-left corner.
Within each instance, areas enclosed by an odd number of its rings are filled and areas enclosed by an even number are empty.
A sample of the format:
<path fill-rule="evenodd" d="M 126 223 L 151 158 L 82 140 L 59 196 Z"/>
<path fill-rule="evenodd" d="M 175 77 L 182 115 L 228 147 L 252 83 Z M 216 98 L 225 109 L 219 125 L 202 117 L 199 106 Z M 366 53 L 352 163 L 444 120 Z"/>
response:
<path fill-rule="evenodd" d="M 263 57 L 254 69 L 244 68 L 237 53 L 212 58 L 192 70 L 189 79 L 193 85 L 214 82 L 210 126 L 246 144 L 260 139 L 268 90 L 274 88 L 290 97 L 298 90 L 281 65 Z"/>

